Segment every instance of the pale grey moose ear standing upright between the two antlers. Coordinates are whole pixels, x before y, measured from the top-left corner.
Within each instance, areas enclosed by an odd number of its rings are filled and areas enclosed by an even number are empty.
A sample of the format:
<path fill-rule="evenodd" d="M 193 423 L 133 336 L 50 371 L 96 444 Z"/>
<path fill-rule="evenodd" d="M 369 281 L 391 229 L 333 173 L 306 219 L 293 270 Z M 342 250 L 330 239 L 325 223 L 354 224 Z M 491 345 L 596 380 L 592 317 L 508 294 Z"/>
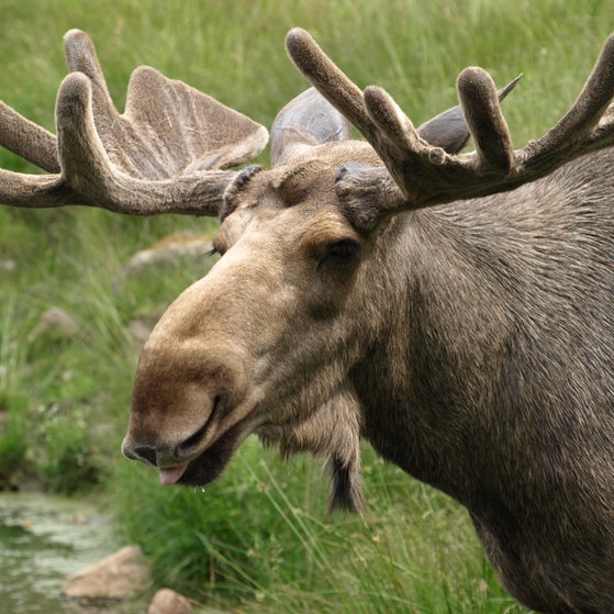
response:
<path fill-rule="evenodd" d="M 277 114 L 271 127 L 271 164 L 286 164 L 315 145 L 346 141 L 350 133 L 350 123 L 315 88 L 310 88 Z"/>

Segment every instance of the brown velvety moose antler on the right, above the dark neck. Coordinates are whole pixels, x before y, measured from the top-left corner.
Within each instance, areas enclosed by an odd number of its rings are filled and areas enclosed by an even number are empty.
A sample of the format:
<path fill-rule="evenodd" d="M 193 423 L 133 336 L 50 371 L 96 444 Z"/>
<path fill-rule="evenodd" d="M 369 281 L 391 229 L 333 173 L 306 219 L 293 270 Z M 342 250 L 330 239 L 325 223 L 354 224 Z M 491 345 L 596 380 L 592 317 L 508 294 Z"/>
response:
<path fill-rule="evenodd" d="M 343 167 L 337 192 L 357 226 L 370 228 L 381 216 L 459 199 L 512 190 L 591 150 L 614 143 L 614 35 L 578 100 L 544 136 L 522 149 L 512 139 L 494 82 L 481 68 L 465 69 L 458 97 L 476 152 L 449 155 L 428 145 L 381 88 L 364 92 L 303 30 L 286 40 L 288 53 L 312 85 L 365 136 L 386 165 Z M 368 199 L 365 196 L 368 194 Z"/>

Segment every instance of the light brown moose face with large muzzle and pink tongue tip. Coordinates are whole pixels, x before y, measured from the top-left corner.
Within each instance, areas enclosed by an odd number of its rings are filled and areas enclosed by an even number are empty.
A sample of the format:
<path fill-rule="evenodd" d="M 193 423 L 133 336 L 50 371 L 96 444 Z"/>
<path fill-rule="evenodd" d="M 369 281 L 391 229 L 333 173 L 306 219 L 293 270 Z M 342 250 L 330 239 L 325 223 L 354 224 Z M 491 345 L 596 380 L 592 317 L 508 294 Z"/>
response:
<path fill-rule="evenodd" d="M 254 432 L 286 453 L 356 460 L 347 372 L 369 343 L 373 245 L 338 208 L 337 169 L 316 160 L 256 174 L 214 239 L 221 259 L 152 333 L 123 451 L 157 466 L 163 483 L 210 482 Z"/>

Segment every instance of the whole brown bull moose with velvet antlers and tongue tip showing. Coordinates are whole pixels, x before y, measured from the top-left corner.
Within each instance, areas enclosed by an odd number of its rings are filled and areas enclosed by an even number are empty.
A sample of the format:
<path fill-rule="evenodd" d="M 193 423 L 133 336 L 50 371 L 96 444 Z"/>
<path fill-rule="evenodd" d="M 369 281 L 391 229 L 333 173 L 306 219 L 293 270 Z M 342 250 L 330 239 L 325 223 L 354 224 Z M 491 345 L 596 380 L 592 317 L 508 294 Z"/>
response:
<path fill-rule="evenodd" d="M 221 222 L 143 348 L 123 454 L 202 485 L 255 433 L 325 456 L 331 506 L 355 510 L 364 437 L 467 507 L 523 604 L 614 612 L 614 35 L 514 149 L 513 83 L 467 68 L 460 105 L 415 129 L 294 29 L 313 87 L 270 169 L 241 166 L 268 142 L 245 115 L 148 67 L 120 114 L 87 35 L 65 51 L 57 135 L 0 109 L 0 144 L 46 171 L 1 170 L 0 202 Z"/>

